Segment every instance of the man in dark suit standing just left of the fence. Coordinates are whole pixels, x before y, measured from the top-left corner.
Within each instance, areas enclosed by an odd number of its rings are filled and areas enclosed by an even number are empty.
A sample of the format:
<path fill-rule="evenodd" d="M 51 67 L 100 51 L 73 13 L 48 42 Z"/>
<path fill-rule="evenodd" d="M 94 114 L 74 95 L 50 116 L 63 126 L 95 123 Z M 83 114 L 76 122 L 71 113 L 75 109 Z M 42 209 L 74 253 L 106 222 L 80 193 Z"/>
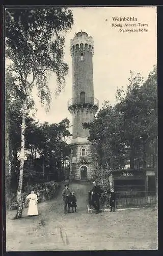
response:
<path fill-rule="evenodd" d="M 96 214 L 100 212 L 100 196 L 103 190 L 97 185 L 96 181 L 93 181 L 93 188 L 90 190 L 90 204 L 96 209 Z"/>

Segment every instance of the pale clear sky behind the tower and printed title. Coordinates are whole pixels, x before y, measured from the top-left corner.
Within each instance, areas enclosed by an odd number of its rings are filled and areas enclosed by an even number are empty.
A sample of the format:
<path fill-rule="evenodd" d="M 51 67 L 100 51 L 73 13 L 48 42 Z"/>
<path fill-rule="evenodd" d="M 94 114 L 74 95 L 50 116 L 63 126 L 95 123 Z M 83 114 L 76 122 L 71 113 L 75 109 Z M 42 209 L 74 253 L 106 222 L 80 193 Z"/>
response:
<path fill-rule="evenodd" d="M 56 98 L 55 76 L 49 78 L 51 91 L 50 110 L 46 113 L 41 107 L 37 92 L 35 118 L 39 122 L 58 123 L 64 118 L 70 120 L 67 102 L 72 98 L 72 59 L 70 39 L 79 31 L 85 31 L 94 40 L 93 80 L 94 97 L 99 100 L 99 109 L 104 100 L 116 104 L 116 91 L 126 88 L 130 70 L 140 72 L 147 79 L 153 65 L 157 63 L 157 13 L 156 7 L 76 7 L 73 11 L 74 25 L 65 38 L 65 61 L 69 66 L 64 90 Z M 134 17 L 137 21 L 114 22 L 113 17 Z M 147 24 L 148 26 L 123 27 L 122 29 L 148 29 L 147 32 L 120 32 L 115 24 Z M 112 25 L 114 24 L 114 25 Z"/>

